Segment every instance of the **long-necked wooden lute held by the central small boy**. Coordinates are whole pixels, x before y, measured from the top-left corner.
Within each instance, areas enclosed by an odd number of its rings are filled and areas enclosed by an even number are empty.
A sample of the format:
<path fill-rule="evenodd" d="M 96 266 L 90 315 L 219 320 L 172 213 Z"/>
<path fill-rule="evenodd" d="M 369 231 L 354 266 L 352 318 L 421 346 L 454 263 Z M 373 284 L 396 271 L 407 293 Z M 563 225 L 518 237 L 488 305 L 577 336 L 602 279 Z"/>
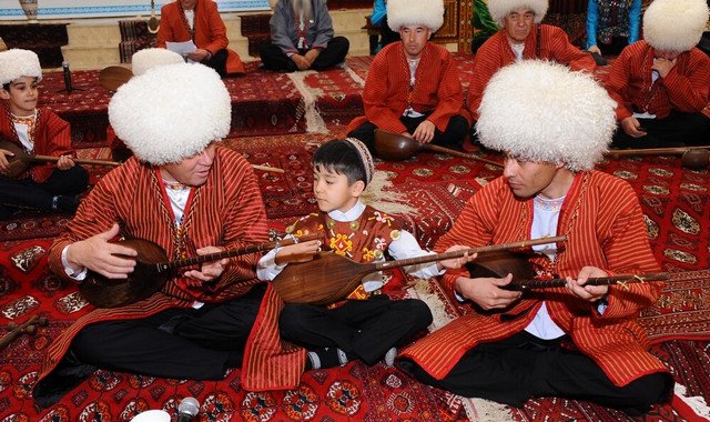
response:
<path fill-rule="evenodd" d="M 541 238 L 515 243 L 494 244 L 463 251 L 445 252 L 404 260 L 361 263 L 333 252 L 318 252 L 312 261 L 290 263 L 272 285 L 286 303 L 329 304 L 347 297 L 363 277 L 382 270 L 483 253 L 566 241 L 566 237 Z"/>

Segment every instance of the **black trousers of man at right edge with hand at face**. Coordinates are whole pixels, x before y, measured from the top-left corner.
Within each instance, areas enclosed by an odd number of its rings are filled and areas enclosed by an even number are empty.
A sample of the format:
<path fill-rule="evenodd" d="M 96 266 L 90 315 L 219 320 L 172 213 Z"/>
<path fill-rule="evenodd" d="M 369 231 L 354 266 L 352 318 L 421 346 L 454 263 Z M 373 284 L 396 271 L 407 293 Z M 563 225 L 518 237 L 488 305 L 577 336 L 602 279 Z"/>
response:
<path fill-rule="evenodd" d="M 674 148 L 706 145 L 710 138 L 710 119 L 703 113 L 673 111 L 666 119 L 638 119 L 646 137 L 632 138 L 619 127 L 613 134 L 612 148 Z"/>

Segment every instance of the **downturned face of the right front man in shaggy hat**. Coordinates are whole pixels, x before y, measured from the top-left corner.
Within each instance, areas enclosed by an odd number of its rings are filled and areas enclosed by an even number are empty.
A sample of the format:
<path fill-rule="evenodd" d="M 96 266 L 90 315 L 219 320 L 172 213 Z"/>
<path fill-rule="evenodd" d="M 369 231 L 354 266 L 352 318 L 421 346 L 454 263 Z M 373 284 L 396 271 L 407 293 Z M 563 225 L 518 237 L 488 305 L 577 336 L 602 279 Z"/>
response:
<path fill-rule="evenodd" d="M 536 194 L 548 199 L 546 190 L 552 184 L 557 170 L 561 165 L 549 162 L 532 162 L 520 158 L 507 155 L 503 175 L 508 180 L 508 185 L 518 198 L 530 198 Z"/>

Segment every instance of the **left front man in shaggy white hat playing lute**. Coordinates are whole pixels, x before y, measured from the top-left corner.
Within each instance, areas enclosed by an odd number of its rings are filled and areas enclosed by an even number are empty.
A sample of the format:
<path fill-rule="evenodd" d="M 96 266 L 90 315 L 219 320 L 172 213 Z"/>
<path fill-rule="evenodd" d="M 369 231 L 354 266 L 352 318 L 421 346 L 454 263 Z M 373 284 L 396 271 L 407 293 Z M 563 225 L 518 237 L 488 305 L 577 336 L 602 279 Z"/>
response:
<path fill-rule="evenodd" d="M 109 120 L 134 155 L 97 184 L 50 248 L 55 274 L 80 284 L 145 274 L 135 250 L 111 242 L 119 235 L 151 241 L 171 261 L 267 240 L 250 163 L 219 145 L 231 110 L 216 72 L 182 63 L 134 77 L 111 99 Z M 221 380 L 241 365 L 261 307 L 257 259 L 179 269 L 148 299 L 80 318 L 49 346 L 36 401 L 53 403 L 95 368 Z"/>

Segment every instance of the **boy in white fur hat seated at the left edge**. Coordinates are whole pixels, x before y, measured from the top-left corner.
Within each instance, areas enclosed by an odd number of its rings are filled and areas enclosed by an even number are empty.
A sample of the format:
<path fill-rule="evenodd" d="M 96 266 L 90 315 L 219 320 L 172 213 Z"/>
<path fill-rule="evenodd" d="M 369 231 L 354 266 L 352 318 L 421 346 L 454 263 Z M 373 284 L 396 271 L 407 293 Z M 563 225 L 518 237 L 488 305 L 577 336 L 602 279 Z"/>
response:
<path fill-rule="evenodd" d="M 49 109 L 38 109 L 37 86 L 42 68 L 37 54 L 12 49 L 0 52 L 0 138 L 26 152 L 59 157 L 55 163 L 33 163 L 12 179 L 8 177 L 12 152 L 0 147 L 0 220 L 18 208 L 74 212 L 77 195 L 87 189 L 89 174 L 71 158 L 69 123 Z"/>

